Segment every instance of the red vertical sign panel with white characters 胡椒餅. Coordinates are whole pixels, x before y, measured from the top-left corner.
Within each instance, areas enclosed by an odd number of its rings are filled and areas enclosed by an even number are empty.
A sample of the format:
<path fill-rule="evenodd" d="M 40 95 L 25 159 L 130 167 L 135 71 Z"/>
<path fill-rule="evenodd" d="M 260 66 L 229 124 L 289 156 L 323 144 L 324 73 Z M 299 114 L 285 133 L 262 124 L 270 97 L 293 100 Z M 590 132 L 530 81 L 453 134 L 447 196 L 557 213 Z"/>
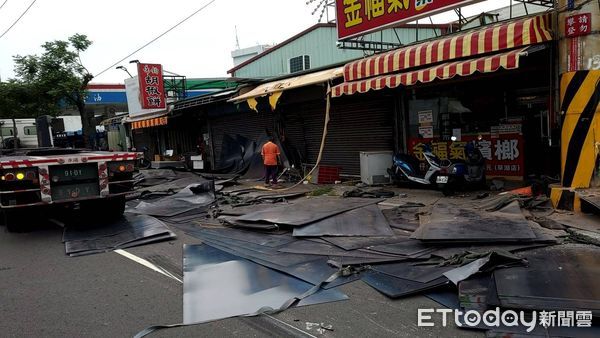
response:
<path fill-rule="evenodd" d="M 143 109 L 166 107 L 162 65 L 138 63 L 140 81 L 140 103 Z"/>

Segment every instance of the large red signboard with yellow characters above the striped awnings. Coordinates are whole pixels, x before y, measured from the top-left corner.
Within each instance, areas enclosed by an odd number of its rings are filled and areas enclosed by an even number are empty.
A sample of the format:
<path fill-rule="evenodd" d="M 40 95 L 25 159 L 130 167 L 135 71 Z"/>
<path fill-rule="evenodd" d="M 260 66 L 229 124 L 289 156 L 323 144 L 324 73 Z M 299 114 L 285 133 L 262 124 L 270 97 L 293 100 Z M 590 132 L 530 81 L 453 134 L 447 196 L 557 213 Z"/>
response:
<path fill-rule="evenodd" d="M 338 39 L 364 35 L 483 0 L 336 0 Z"/>

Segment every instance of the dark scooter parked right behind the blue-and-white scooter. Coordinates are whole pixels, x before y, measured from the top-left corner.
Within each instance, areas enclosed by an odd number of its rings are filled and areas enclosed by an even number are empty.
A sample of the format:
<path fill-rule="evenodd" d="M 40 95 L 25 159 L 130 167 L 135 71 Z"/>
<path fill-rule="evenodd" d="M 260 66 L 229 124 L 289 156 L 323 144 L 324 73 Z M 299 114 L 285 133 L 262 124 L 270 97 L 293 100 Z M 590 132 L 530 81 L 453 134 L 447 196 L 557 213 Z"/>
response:
<path fill-rule="evenodd" d="M 453 162 L 439 173 L 437 186 L 445 196 L 454 195 L 461 188 L 486 187 L 485 158 L 480 150 L 480 140 L 481 136 L 466 145 L 466 161 Z M 456 137 L 452 136 L 452 141 L 456 141 Z"/>

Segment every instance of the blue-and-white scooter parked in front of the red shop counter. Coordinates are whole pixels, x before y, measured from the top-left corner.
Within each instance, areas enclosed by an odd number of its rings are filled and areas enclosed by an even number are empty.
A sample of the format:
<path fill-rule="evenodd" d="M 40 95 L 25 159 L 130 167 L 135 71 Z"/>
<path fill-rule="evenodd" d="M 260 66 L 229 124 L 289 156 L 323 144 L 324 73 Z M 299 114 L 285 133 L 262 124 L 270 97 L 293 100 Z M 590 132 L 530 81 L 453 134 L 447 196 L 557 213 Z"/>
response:
<path fill-rule="evenodd" d="M 439 173 L 447 171 L 447 166 L 431 152 L 431 147 L 425 145 L 423 156 L 429 165 L 427 171 L 420 170 L 420 162 L 413 156 L 397 153 L 392 159 L 392 167 L 388 168 L 388 173 L 395 184 L 417 183 L 426 186 L 435 187 L 439 183 Z M 447 177 L 446 177 L 447 179 Z"/>

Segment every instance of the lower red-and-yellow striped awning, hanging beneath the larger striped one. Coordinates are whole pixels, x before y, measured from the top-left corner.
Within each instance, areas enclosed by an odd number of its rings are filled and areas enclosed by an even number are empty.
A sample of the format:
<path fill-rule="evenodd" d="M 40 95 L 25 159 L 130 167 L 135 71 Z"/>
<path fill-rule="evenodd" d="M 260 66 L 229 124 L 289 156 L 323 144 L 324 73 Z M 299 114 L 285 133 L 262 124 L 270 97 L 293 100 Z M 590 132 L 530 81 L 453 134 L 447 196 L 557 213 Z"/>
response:
<path fill-rule="evenodd" d="M 369 90 L 411 86 L 418 82 L 427 83 L 436 79 L 448 80 L 455 76 L 472 75 L 475 72 L 492 73 L 501 68 L 516 69 L 519 68 L 519 58 L 527 55 L 527 49 L 528 47 L 519 48 L 492 56 L 443 63 L 426 69 L 345 82 L 332 88 L 332 96 L 339 97 L 355 93 L 366 93 Z"/>

